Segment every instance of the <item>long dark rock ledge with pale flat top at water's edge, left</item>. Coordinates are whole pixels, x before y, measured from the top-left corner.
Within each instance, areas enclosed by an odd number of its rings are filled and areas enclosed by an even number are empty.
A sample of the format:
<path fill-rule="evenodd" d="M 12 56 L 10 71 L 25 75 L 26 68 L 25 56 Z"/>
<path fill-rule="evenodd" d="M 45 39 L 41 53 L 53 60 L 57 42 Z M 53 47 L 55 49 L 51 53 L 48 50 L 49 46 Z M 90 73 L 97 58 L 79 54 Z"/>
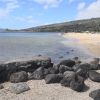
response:
<path fill-rule="evenodd" d="M 33 72 L 39 67 L 51 67 L 51 58 L 49 57 L 43 57 L 43 56 L 38 56 L 38 57 L 33 57 L 32 59 L 29 60 L 16 60 L 13 62 L 8 62 L 6 63 L 8 65 L 9 69 L 16 68 L 17 71 L 27 71 L 27 72 Z M 12 66 L 12 68 L 11 68 Z M 12 72 L 16 72 L 16 69 L 13 69 Z"/>

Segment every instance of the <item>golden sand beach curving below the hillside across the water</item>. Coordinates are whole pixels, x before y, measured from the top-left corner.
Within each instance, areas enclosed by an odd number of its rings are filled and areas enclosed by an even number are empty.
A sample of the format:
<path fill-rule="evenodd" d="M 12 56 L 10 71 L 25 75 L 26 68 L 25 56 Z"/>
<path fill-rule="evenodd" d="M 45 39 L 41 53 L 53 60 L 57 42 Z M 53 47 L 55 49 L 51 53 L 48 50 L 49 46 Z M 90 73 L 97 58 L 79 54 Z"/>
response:
<path fill-rule="evenodd" d="M 86 47 L 91 53 L 100 56 L 100 34 L 91 33 L 65 33 L 63 34 L 65 38 L 78 39 L 77 43 Z"/>

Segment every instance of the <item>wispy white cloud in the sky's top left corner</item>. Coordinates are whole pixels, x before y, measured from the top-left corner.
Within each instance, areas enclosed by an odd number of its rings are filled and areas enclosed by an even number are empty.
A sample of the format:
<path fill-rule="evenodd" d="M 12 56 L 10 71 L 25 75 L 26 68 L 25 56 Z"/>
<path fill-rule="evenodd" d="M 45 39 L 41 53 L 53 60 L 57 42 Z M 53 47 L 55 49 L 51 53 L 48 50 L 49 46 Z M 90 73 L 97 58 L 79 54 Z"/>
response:
<path fill-rule="evenodd" d="M 17 0 L 0 0 L 0 3 L 4 4 L 4 7 L 0 7 L 0 17 L 9 15 L 14 9 L 19 7 Z"/>

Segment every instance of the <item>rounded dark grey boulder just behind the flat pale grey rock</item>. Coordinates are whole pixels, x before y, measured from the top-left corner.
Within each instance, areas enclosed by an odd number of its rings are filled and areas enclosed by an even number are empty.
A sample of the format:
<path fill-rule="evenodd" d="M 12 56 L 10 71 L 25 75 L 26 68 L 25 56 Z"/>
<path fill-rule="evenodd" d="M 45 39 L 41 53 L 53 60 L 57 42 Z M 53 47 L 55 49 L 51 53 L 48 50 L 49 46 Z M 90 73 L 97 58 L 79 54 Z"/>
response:
<path fill-rule="evenodd" d="M 25 82 L 28 80 L 28 74 L 25 71 L 16 72 L 11 74 L 10 82 L 18 83 L 18 82 Z"/>

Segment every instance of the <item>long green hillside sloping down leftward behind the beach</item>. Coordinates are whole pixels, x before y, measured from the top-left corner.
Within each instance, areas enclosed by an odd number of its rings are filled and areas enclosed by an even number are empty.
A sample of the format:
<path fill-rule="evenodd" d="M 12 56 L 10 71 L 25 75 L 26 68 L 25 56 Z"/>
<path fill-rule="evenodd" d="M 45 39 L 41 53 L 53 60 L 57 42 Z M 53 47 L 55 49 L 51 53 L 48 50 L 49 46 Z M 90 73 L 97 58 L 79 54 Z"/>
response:
<path fill-rule="evenodd" d="M 100 32 L 100 18 L 76 20 L 64 23 L 56 23 L 44 26 L 37 26 L 20 31 L 29 32 Z"/>

